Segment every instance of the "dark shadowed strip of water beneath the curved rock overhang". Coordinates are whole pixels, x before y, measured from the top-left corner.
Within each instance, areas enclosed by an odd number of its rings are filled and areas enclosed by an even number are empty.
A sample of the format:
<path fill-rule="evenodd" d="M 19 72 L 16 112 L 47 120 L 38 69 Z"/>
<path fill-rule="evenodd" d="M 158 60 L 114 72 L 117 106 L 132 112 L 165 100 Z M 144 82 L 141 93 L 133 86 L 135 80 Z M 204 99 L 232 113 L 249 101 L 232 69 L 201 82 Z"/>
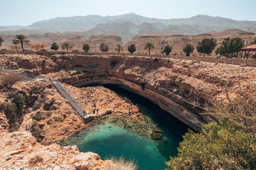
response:
<path fill-rule="evenodd" d="M 154 124 L 157 124 L 157 127 L 163 130 L 164 140 L 156 141 L 156 144 L 166 160 L 168 160 L 170 156 L 173 157 L 177 155 L 177 147 L 180 141 L 182 141 L 182 135 L 188 132 L 189 127 L 186 124 L 170 115 L 147 98 L 141 97 L 136 93 L 123 89 L 115 84 L 104 84 L 102 86 L 115 91 L 115 93 L 122 97 L 128 98 L 131 100 L 132 104 L 138 105 L 140 112 L 150 118 Z"/>

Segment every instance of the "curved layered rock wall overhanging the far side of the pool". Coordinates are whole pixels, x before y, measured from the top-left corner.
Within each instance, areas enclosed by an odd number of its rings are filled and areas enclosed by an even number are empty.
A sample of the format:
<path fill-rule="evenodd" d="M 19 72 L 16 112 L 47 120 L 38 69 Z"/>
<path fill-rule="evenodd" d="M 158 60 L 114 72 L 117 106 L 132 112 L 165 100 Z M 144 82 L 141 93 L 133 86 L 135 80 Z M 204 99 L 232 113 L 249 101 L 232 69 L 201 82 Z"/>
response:
<path fill-rule="evenodd" d="M 52 55 L 44 59 L 36 55 L 13 56 L 5 64 L 74 86 L 119 84 L 148 98 L 196 131 L 212 120 L 199 114 L 200 107 L 211 105 L 212 99 L 225 98 L 225 88 L 231 97 L 238 89 L 238 73 L 241 88 L 255 93 L 250 83 L 256 82 L 256 68 L 220 63 L 102 54 Z M 145 82 L 145 90 L 141 90 L 141 80 Z M 195 107 L 196 104 L 200 107 Z"/>

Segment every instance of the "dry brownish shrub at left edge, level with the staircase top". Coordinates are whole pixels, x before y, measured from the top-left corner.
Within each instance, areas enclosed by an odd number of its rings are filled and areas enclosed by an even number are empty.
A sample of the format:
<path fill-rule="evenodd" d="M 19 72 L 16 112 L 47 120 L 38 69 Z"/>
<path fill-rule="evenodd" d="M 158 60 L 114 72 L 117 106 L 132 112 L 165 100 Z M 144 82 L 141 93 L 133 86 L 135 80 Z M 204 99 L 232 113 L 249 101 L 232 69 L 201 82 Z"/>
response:
<path fill-rule="evenodd" d="M 15 73 L 2 73 L 0 75 L 1 85 L 5 88 L 12 88 L 15 82 L 24 81 L 24 79 L 24 77 Z"/>

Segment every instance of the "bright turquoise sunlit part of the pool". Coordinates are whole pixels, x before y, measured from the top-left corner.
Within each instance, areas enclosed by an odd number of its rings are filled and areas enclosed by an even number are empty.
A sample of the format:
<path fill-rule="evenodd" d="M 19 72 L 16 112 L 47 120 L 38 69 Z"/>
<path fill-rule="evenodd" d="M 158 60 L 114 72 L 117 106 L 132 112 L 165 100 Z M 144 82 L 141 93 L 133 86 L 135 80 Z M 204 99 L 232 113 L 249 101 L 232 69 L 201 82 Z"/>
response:
<path fill-rule="evenodd" d="M 127 132 L 124 128 L 109 124 L 100 125 L 77 144 L 80 151 L 93 151 L 100 156 L 115 155 L 134 159 L 143 169 L 164 169 L 165 158 L 157 149 L 154 141 L 143 139 Z M 104 158 L 104 157 L 103 157 Z"/>

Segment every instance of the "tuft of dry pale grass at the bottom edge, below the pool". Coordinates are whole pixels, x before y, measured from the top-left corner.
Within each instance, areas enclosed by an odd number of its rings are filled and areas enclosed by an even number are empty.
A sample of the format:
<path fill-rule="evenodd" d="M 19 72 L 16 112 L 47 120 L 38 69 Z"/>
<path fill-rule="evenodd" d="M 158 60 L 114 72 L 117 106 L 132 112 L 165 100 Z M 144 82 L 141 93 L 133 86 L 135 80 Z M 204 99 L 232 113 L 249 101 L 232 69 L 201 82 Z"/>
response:
<path fill-rule="evenodd" d="M 108 162 L 106 169 L 108 170 L 136 170 L 138 166 L 134 160 L 125 160 L 124 157 L 106 157 L 108 160 L 112 160 L 114 164 Z"/>

